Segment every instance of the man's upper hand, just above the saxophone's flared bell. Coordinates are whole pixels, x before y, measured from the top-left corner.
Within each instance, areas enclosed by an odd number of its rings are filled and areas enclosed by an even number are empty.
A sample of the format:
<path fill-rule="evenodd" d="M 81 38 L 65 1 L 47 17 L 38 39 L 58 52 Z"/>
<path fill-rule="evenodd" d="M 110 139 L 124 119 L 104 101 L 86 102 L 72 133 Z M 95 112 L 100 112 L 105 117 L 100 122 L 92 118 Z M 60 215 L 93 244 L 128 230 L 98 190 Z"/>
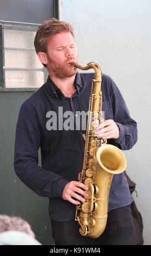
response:
<path fill-rule="evenodd" d="M 117 139 L 119 138 L 120 131 L 114 120 L 104 120 L 97 126 L 97 136 L 102 139 Z"/>

